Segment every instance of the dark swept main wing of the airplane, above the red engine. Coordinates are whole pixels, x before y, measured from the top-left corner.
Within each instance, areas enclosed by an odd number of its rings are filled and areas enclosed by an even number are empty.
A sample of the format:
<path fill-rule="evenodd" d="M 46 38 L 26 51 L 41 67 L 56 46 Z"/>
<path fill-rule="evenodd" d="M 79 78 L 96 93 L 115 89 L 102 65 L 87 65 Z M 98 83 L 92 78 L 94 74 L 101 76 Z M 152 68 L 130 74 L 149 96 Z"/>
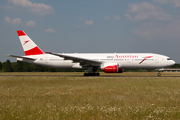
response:
<path fill-rule="evenodd" d="M 64 54 L 52 53 L 52 52 L 46 52 L 46 53 L 62 57 L 64 58 L 64 60 L 72 60 L 73 63 L 80 63 L 81 66 L 99 66 L 102 64 L 101 61 L 97 61 L 97 60 L 85 59 L 80 57 L 64 55 Z"/>

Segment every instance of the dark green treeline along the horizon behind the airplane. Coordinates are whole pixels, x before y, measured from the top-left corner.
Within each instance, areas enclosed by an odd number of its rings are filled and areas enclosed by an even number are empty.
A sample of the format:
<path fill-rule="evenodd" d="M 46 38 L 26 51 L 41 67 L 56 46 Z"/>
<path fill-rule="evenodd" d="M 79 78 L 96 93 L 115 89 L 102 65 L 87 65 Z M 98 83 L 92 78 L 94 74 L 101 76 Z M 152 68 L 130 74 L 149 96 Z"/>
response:
<path fill-rule="evenodd" d="M 180 68 L 180 64 L 175 64 L 169 68 Z M 1 63 L 0 72 L 84 72 L 82 69 L 54 69 L 40 65 L 25 63 L 22 61 L 12 62 L 7 60 Z M 100 70 L 98 70 L 100 71 Z M 125 69 L 124 72 L 153 72 L 155 70 Z"/>

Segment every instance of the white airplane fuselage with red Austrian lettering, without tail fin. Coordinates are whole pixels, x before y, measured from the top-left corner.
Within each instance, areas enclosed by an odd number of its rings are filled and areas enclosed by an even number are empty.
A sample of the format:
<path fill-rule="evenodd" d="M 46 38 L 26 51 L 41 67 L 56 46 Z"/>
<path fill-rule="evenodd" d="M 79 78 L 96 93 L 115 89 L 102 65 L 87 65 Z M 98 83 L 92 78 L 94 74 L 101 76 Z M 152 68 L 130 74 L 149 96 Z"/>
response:
<path fill-rule="evenodd" d="M 95 61 L 102 61 L 102 64 L 118 63 L 119 68 L 121 69 L 159 69 L 175 64 L 175 62 L 171 60 L 169 57 L 154 53 L 68 53 L 64 55 L 85 58 Z M 78 62 L 73 62 L 72 60 L 64 60 L 64 58 L 54 56 L 51 54 L 29 55 L 25 57 L 33 58 L 36 60 L 25 60 L 21 58 L 17 59 L 20 61 L 34 63 L 52 68 L 86 68 L 80 65 L 80 63 Z"/>

